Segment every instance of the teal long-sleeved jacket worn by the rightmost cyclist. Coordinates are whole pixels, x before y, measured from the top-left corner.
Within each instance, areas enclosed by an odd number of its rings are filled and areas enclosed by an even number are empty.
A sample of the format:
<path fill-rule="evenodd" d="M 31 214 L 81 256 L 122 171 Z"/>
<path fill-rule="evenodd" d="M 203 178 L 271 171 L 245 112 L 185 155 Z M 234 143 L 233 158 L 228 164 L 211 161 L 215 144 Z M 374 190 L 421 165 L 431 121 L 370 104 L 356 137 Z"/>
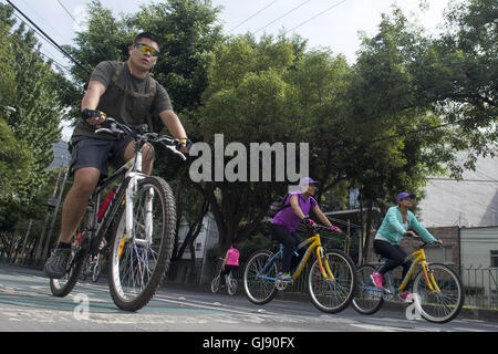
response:
<path fill-rule="evenodd" d="M 403 239 L 403 233 L 405 233 L 408 229 L 415 231 L 426 242 L 436 241 L 430 232 L 418 223 L 417 219 L 409 210 L 407 210 L 407 220 L 405 225 L 403 225 L 401 210 L 397 207 L 391 207 L 387 210 L 384 220 L 377 230 L 375 239 L 387 241 L 391 244 L 397 244 Z"/>

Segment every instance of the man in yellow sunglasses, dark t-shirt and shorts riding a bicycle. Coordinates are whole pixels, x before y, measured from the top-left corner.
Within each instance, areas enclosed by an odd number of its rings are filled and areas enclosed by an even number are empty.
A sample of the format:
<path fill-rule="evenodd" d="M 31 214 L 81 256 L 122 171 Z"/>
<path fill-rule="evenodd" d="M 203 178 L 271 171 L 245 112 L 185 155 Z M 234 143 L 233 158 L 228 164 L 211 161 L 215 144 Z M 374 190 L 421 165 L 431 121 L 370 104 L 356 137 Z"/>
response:
<path fill-rule="evenodd" d="M 94 131 L 106 119 L 103 112 L 128 126 L 139 127 L 146 123 L 149 129 L 153 128 L 152 116 L 159 116 L 169 133 L 180 140 L 181 152 L 188 153 L 187 135 L 173 111 L 168 93 L 149 73 L 159 55 L 158 39 L 149 32 L 141 33 L 128 48 L 128 53 L 129 58 L 124 63 L 101 62 L 90 77 L 81 103 L 82 117 L 71 138 L 70 170 L 74 174 L 74 183 L 64 199 L 58 247 L 44 266 L 49 278 L 64 277 L 71 256 L 71 238 L 100 178 L 107 175 L 107 162 L 120 167 L 134 156 L 132 137 L 95 134 Z M 154 148 L 145 144 L 142 153 L 143 173 L 151 175 Z"/>

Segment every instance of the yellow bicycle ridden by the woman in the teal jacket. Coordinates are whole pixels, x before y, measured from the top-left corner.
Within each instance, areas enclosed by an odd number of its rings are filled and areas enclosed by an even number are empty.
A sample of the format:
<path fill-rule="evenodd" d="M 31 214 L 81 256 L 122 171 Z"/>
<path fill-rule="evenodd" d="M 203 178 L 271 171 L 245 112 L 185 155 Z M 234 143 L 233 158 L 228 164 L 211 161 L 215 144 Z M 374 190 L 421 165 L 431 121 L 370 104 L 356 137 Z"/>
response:
<path fill-rule="evenodd" d="M 403 292 L 412 279 L 417 266 L 422 270 L 413 281 L 413 298 L 416 311 L 429 322 L 445 323 L 455 319 L 464 304 L 464 285 L 460 277 L 448 266 L 429 263 L 424 248 L 440 247 L 437 242 L 424 242 L 407 258 L 413 263 L 402 280 L 400 287 L 394 287 L 391 272 L 385 274 L 386 285 L 383 289 L 375 287 L 370 275 L 378 269 L 380 264 L 363 264 L 357 268 L 359 291 L 353 300 L 353 308 L 362 314 L 374 314 L 384 300 L 391 300 Z"/>

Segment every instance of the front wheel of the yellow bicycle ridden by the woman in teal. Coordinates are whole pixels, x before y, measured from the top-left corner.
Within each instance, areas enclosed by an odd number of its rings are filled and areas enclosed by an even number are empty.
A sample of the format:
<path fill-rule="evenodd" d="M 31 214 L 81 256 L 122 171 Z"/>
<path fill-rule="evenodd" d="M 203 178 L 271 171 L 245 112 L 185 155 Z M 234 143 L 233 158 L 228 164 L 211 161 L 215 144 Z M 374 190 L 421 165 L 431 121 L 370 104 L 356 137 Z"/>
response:
<path fill-rule="evenodd" d="M 421 315 L 435 323 L 445 323 L 455 319 L 464 305 L 464 285 L 460 277 L 449 267 L 432 263 L 427 267 L 426 279 L 421 271 L 413 282 L 415 305 Z M 427 280 L 437 285 L 430 290 Z"/>

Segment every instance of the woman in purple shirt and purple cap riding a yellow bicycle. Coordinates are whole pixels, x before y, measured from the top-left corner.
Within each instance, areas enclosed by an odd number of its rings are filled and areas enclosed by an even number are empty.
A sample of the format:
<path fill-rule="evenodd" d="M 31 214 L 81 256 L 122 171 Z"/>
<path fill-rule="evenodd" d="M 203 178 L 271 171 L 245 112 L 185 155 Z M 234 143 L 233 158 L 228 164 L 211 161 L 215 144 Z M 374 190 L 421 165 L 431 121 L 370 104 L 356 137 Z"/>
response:
<path fill-rule="evenodd" d="M 320 210 L 317 200 L 313 198 L 320 183 L 313 180 L 311 177 L 304 177 L 299 185 L 301 191 L 293 191 L 287 197 L 286 206 L 290 205 L 290 208 L 280 210 L 274 216 L 270 226 L 270 235 L 272 238 L 283 244 L 282 269 L 278 279 L 286 282 L 292 281 L 290 273 L 292 251 L 295 246 L 301 243 L 301 238 L 298 232 L 295 232 L 295 229 L 298 228 L 299 222 L 304 220 L 311 210 L 313 210 L 320 221 L 325 226 L 330 227 L 332 230 L 340 231 L 338 227 L 332 226 L 322 210 Z M 313 227 L 317 226 L 312 220 L 310 220 L 310 223 L 313 225 Z"/>

